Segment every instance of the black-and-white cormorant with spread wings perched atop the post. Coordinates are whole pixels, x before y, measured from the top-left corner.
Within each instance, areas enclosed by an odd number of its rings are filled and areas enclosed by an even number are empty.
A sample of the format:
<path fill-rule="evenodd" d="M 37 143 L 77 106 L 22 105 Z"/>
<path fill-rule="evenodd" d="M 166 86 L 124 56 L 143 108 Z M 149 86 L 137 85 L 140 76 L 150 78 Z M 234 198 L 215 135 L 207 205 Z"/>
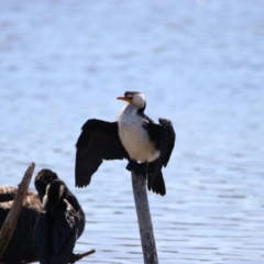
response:
<path fill-rule="evenodd" d="M 81 128 L 76 143 L 76 186 L 89 185 L 103 160 L 127 158 L 127 169 L 147 176 L 148 190 L 163 196 L 166 188 L 162 167 L 167 165 L 176 139 L 173 125 L 166 119 L 154 123 L 144 114 L 146 100 L 142 92 L 127 91 L 117 99 L 129 102 L 118 121 L 89 119 Z"/>

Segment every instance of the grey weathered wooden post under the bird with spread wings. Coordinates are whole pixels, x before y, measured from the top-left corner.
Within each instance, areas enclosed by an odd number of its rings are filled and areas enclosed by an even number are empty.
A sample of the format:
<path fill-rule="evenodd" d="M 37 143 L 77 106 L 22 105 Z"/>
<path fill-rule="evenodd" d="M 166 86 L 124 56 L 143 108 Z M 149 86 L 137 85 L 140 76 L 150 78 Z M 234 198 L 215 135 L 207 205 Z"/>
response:
<path fill-rule="evenodd" d="M 134 172 L 131 173 L 131 176 L 144 264 L 158 264 L 145 178 L 141 175 L 135 175 Z"/>

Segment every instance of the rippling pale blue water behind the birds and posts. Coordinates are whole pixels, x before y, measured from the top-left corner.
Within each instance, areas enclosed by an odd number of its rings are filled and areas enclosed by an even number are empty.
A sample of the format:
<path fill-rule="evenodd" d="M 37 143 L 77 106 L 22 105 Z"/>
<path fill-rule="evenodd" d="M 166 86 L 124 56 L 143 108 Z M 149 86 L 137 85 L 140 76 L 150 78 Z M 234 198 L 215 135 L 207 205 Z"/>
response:
<path fill-rule="evenodd" d="M 127 163 L 74 180 L 82 123 L 139 90 L 177 133 L 148 193 L 160 263 L 264 263 L 263 35 L 261 0 L 0 0 L 0 184 L 55 170 L 86 211 L 79 263 L 143 263 Z"/>

